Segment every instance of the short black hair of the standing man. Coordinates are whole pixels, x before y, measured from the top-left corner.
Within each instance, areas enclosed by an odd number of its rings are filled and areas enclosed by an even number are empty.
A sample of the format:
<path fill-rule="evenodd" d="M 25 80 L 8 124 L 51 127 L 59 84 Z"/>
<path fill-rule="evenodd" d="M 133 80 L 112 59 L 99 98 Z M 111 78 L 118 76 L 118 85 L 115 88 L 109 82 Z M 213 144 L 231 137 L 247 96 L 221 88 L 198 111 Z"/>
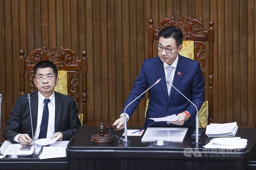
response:
<path fill-rule="evenodd" d="M 160 39 L 160 37 L 164 37 L 165 39 L 171 37 L 176 41 L 177 47 L 182 45 L 182 41 L 183 41 L 182 32 L 179 28 L 176 28 L 175 26 L 168 26 L 162 29 L 158 34 L 158 39 Z"/>

